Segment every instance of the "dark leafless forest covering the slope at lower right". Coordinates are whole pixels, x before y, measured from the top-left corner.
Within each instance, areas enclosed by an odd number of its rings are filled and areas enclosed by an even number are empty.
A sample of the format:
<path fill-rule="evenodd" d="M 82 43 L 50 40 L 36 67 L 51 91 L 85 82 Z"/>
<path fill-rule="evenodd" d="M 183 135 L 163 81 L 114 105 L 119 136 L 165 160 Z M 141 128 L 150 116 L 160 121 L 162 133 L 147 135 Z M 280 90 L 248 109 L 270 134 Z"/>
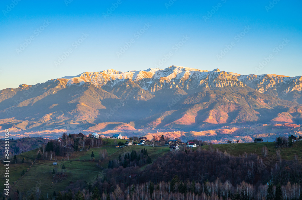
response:
<path fill-rule="evenodd" d="M 143 171 L 123 164 L 109 167 L 93 183 L 78 181 L 62 195 L 78 192 L 87 199 L 92 191 L 91 199 L 112 200 L 301 199 L 301 155 L 294 160 L 252 153 L 233 156 L 210 146 L 166 153 Z M 123 162 L 129 159 L 125 156 Z"/>

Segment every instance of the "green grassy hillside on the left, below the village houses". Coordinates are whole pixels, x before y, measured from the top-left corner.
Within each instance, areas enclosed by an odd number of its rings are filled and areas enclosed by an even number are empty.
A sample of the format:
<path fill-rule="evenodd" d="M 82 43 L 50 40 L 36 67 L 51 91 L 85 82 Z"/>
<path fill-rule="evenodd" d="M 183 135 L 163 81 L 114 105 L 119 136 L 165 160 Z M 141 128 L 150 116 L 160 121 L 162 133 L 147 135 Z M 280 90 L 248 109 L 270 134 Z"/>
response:
<path fill-rule="evenodd" d="M 117 141 L 119 142 L 119 140 Z M 124 141 L 125 140 L 123 140 L 123 142 Z M 130 153 L 133 149 L 135 149 L 137 152 L 140 152 L 141 149 L 144 148 L 148 150 L 148 155 L 153 161 L 165 152 L 169 152 L 169 147 L 132 145 L 126 146 L 124 148 L 115 148 L 115 146 L 110 146 L 110 144 L 107 143 L 99 148 L 90 148 L 88 151 L 83 152 L 74 152 L 68 161 L 37 160 L 34 163 L 32 162 L 37 156 L 38 149 L 24 152 L 17 156 L 18 163 L 20 164 L 10 164 L 9 182 L 10 184 L 12 184 L 13 182 L 17 181 L 17 183 L 14 183 L 14 185 L 12 186 L 11 191 L 16 191 L 17 189 L 19 189 L 19 191 L 30 191 L 34 193 L 36 186 L 40 186 L 40 188 L 42 188 L 41 194 L 46 196 L 46 192 L 48 192 L 48 195 L 50 195 L 49 192 L 53 193 L 53 191 L 58 192 L 59 190 L 63 190 L 64 188 L 66 188 L 66 186 L 69 185 L 70 182 L 75 180 L 82 179 L 86 180 L 87 182 L 92 182 L 93 179 L 95 179 L 97 176 L 104 175 L 104 169 L 108 168 L 109 160 L 118 159 L 119 155 L 124 155 L 128 152 Z M 106 151 L 108 152 L 108 158 L 104 162 L 100 162 L 100 168 L 97 167 L 97 163 L 100 158 L 99 151 L 103 149 L 106 149 Z M 94 158 L 97 162 L 92 161 L 92 158 L 90 156 L 92 151 L 94 152 Z M 25 158 L 25 163 L 21 164 L 23 158 Z M 57 162 L 58 165 L 53 166 L 53 162 Z M 32 166 L 30 167 L 30 165 Z M 67 180 L 63 180 L 61 183 L 53 183 L 53 169 L 55 169 L 55 171 L 57 172 L 62 172 L 63 165 L 66 167 L 64 174 L 67 175 Z M 25 175 L 22 176 L 22 170 L 26 171 L 27 168 L 29 168 L 28 171 Z M 0 169 L 4 170 L 3 164 L 0 164 Z M 85 173 L 85 176 L 83 176 L 83 173 Z M 4 178 L 1 178 L 0 184 L 3 185 L 4 182 Z"/>

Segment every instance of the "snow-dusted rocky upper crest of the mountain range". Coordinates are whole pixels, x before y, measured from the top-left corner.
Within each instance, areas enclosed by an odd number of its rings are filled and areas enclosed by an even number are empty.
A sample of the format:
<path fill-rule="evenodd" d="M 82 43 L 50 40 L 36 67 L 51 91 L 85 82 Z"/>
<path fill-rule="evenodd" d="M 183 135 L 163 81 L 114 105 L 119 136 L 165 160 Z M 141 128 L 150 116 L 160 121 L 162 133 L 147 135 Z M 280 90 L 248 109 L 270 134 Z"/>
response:
<path fill-rule="evenodd" d="M 240 75 L 233 72 L 200 70 L 182 66 L 170 66 L 166 69 L 146 69 L 143 71 L 120 72 L 107 69 L 101 72 L 84 72 L 77 76 L 63 77 L 68 79 L 67 85 L 90 82 L 98 87 L 115 87 L 124 82 L 134 82 L 149 92 L 160 89 L 181 88 L 185 91 L 223 89 L 246 86 L 260 93 L 275 94 L 284 98 L 290 92 L 302 90 L 302 77 L 288 77 L 275 74 Z M 235 90 L 236 90 L 235 89 Z"/>

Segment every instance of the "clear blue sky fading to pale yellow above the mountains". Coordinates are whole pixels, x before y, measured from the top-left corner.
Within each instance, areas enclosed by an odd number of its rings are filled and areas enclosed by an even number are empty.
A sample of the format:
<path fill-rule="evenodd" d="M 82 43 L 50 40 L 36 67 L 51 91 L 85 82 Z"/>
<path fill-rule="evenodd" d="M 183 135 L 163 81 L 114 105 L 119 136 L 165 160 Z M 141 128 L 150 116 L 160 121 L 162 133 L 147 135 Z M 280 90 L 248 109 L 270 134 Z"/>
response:
<path fill-rule="evenodd" d="M 0 89 L 171 65 L 302 75 L 299 0 L 2 0 L 0 10 Z"/>

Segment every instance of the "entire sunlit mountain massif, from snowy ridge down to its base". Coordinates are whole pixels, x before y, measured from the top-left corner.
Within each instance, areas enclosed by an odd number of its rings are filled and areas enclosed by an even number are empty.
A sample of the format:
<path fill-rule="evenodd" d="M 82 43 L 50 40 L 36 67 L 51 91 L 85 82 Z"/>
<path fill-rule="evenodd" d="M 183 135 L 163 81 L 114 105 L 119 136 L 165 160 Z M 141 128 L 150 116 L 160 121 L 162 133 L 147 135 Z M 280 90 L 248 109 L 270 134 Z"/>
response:
<path fill-rule="evenodd" d="M 301 82 L 301 76 L 239 75 L 181 66 L 85 72 L 0 91 L 0 125 L 36 131 L 98 126 L 108 130 L 112 123 L 130 129 L 182 130 L 299 124 Z"/>

